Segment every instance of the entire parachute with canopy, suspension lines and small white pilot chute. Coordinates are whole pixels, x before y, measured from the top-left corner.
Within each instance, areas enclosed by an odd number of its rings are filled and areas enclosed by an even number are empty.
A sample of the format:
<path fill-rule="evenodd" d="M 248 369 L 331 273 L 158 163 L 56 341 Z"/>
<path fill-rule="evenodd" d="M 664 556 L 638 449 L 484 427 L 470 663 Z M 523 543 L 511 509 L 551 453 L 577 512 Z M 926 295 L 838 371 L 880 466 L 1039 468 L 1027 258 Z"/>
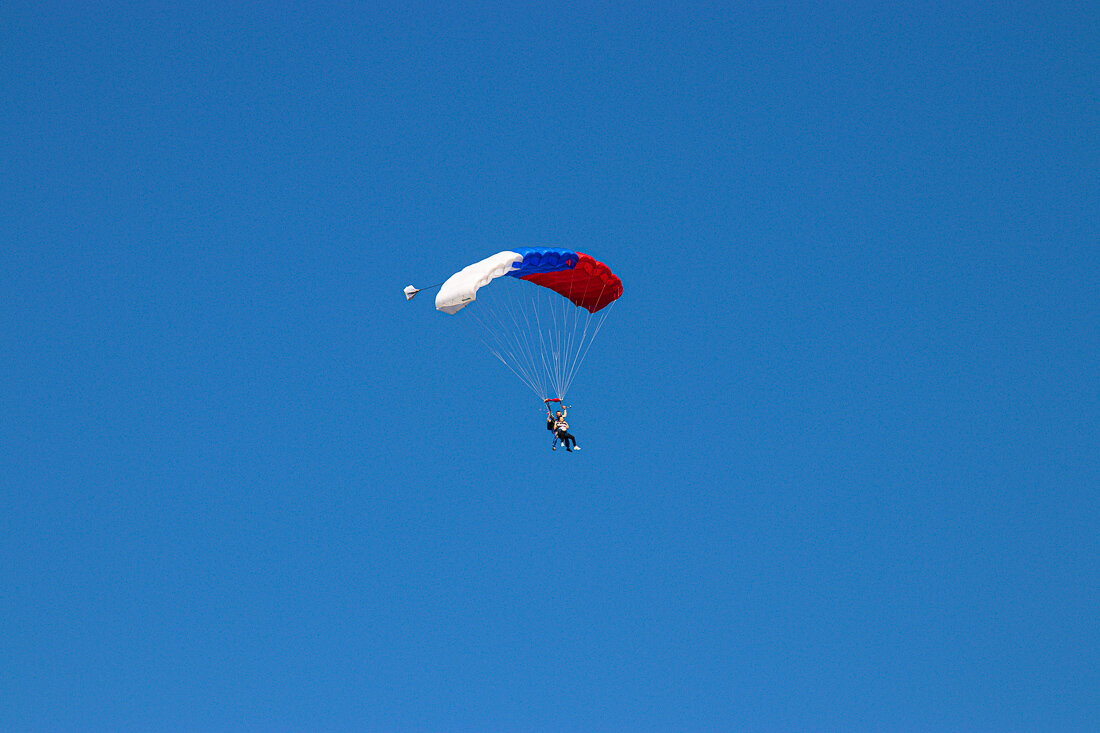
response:
<path fill-rule="evenodd" d="M 409 285 L 405 297 L 420 289 Z M 475 326 L 490 352 L 539 400 L 562 398 L 620 295 L 618 276 L 583 252 L 518 248 L 451 275 L 439 286 L 436 309 Z"/>

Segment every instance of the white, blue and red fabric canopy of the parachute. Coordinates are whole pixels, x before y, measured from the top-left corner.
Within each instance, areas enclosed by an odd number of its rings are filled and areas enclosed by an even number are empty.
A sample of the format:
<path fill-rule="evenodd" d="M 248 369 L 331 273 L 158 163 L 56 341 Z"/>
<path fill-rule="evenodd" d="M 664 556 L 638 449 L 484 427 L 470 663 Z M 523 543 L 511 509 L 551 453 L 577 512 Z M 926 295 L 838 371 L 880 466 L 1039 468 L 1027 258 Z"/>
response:
<path fill-rule="evenodd" d="M 436 295 L 436 309 L 457 314 L 477 291 L 502 276 L 550 288 L 590 314 L 623 295 L 623 282 L 610 267 L 583 252 L 524 247 L 497 252 L 451 275 Z"/>

